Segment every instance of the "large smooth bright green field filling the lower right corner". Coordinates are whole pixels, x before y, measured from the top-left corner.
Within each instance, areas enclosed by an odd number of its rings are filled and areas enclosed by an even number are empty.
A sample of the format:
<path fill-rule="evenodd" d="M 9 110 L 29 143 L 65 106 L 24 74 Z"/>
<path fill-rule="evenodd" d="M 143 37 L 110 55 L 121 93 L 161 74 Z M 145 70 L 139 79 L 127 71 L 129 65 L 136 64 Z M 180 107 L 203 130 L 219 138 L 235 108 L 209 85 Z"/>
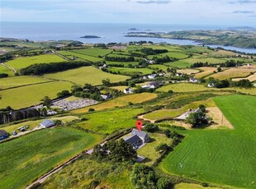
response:
<path fill-rule="evenodd" d="M 166 173 L 221 186 L 255 188 L 256 97 L 228 95 L 214 100 L 235 129 L 187 131 L 160 167 Z"/>

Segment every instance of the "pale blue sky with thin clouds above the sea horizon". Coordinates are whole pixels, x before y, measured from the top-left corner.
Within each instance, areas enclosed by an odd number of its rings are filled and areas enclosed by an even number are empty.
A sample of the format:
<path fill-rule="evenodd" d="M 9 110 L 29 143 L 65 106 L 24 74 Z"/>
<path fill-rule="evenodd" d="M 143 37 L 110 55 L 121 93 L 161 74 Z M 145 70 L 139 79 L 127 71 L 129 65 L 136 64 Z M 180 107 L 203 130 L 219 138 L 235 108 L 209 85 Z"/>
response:
<path fill-rule="evenodd" d="M 0 0 L 1 21 L 256 26 L 256 0 Z"/>

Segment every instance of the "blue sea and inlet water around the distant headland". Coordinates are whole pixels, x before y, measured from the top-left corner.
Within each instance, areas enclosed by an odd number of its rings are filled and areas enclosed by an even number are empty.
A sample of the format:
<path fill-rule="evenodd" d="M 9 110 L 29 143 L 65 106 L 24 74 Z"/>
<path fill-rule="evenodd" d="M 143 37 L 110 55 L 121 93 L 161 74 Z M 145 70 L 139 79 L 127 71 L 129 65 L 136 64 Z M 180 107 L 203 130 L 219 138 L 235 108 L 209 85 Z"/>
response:
<path fill-rule="evenodd" d="M 83 43 L 129 43 L 130 41 L 153 41 L 168 44 L 199 45 L 192 40 L 159 39 L 159 38 L 127 38 L 125 34 L 130 28 L 138 31 L 168 32 L 175 30 L 218 30 L 232 25 L 149 25 L 149 24 L 99 24 L 99 23 L 43 23 L 43 22 L 1 22 L 0 37 L 29 39 L 35 41 L 72 39 Z M 97 35 L 101 38 L 84 39 L 84 35 Z M 226 47 L 223 47 L 226 48 Z M 256 49 L 228 47 L 244 53 L 256 53 Z"/>

